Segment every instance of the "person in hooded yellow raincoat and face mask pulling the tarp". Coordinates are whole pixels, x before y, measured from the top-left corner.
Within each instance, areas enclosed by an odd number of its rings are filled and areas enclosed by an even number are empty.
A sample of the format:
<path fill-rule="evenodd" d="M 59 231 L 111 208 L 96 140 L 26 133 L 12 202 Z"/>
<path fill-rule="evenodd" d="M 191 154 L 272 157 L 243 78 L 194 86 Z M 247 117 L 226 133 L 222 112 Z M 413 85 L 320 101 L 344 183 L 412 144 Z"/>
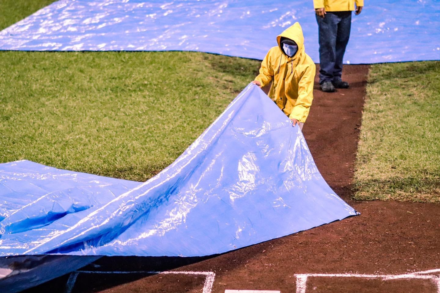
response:
<path fill-rule="evenodd" d="M 253 83 L 264 87 L 272 82 L 269 97 L 292 120 L 293 127 L 298 124 L 302 129 L 313 100 L 315 63 L 304 51 L 298 22 L 277 36 L 277 42 L 261 62 Z"/>

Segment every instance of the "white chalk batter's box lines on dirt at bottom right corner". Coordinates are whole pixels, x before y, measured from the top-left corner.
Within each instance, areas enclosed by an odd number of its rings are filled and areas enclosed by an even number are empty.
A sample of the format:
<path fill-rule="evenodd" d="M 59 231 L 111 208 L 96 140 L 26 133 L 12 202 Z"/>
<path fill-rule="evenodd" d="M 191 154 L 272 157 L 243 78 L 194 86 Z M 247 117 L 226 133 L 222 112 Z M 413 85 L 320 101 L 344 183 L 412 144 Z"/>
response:
<path fill-rule="evenodd" d="M 384 281 L 398 279 L 425 279 L 432 280 L 437 286 L 437 293 L 440 293 L 440 277 L 437 275 L 425 275 L 440 272 L 440 269 L 429 271 L 417 271 L 402 275 L 367 275 L 367 274 L 295 274 L 297 289 L 296 293 L 306 293 L 308 277 L 339 277 L 339 278 L 364 278 L 364 279 L 382 279 Z"/>

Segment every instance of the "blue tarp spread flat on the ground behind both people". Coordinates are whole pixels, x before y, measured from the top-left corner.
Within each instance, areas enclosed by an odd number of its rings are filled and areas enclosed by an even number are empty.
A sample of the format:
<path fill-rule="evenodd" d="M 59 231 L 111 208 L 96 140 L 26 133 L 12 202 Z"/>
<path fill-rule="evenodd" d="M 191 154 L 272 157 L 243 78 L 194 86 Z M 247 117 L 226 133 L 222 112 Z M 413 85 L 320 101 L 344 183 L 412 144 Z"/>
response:
<path fill-rule="evenodd" d="M 312 0 L 60 0 L 0 32 L 0 50 L 202 51 L 263 59 L 294 22 L 319 63 Z M 345 63 L 440 59 L 438 0 L 366 0 Z"/>

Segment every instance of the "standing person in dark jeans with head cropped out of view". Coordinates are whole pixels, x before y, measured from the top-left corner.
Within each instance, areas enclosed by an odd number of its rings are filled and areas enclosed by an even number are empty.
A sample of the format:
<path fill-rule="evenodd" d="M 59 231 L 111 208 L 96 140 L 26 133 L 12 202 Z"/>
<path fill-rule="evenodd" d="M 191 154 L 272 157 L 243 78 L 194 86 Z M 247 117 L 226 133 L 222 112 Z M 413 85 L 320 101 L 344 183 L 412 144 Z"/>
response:
<path fill-rule="evenodd" d="M 355 3 L 358 15 L 363 0 L 313 0 L 319 28 L 319 84 L 325 92 L 349 86 L 341 79 L 342 58 L 350 37 Z"/>

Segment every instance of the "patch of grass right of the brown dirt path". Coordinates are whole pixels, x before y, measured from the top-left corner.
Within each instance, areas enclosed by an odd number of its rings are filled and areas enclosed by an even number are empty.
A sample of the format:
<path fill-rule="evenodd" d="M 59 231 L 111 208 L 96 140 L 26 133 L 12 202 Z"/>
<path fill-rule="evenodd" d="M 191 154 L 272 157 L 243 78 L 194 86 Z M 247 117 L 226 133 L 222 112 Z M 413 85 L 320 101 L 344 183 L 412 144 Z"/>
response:
<path fill-rule="evenodd" d="M 440 202 L 440 61 L 373 65 L 356 199 Z"/>

